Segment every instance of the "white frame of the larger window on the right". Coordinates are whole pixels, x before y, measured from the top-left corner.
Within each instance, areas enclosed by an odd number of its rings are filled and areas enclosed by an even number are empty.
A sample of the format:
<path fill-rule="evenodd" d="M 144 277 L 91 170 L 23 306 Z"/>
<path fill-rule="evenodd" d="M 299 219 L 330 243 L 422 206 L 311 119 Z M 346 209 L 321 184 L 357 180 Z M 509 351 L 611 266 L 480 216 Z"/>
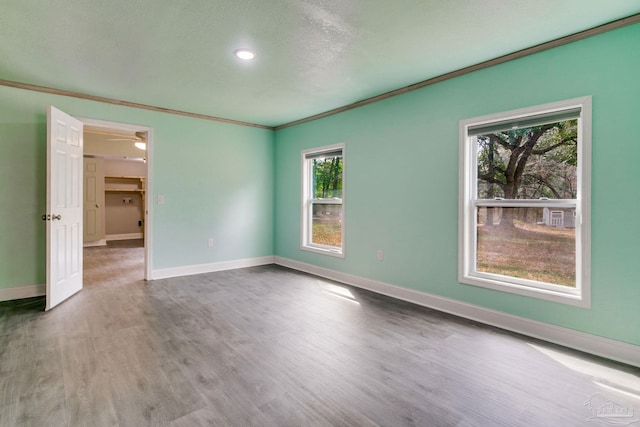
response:
<path fill-rule="evenodd" d="M 487 200 L 477 198 L 477 144 L 469 136 L 470 128 L 492 123 L 526 121 L 532 116 L 544 116 L 579 108 L 577 193 L 575 199 L 555 200 Z M 523 126 L 524 127 L 524 126 Z M 458 281 L 527 297 L 574 305 L 591 306 L 591 97 L 581 97 L 529 108 L 461 120 L 459 163 L 459 230 Z M 548 284 L 534 280 L 503 276 L 476 270 L 477 209 L 480 207 L 575 208 L 576 286 Z"/>

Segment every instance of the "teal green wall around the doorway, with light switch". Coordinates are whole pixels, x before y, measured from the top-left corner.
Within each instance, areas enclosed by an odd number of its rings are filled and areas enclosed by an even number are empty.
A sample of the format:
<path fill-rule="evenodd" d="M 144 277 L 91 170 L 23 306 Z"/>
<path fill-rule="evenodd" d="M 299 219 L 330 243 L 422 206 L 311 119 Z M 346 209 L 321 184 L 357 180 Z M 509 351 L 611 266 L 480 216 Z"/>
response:
<path fill-rule="evenodd" d="M 153 128 L 154 270 L 273 254 L 273 131 L 0 86 L 0 288 L 45 282 L 50 104 Z"/>

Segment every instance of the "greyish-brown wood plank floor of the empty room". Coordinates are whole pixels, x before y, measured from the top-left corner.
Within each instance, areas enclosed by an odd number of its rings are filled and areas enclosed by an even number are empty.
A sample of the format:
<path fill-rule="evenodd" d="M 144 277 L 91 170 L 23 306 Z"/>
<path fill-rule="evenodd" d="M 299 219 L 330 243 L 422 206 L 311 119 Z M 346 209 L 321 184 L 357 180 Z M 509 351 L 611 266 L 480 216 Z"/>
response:
<path fill-rule="evenodd" d="M 278 266 L 144 282 L 85 252 L 51 312 L 0 303 L 0 426 L 584 426 L 640 370 Z M 588 405 L 590 403 L 591 405 Z"/>

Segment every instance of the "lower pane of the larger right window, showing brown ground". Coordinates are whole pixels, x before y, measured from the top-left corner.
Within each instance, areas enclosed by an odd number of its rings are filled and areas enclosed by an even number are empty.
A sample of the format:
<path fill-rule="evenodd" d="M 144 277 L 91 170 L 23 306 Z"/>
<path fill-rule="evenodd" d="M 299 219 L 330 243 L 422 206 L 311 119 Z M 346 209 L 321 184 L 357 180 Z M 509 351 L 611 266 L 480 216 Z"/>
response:
<path fill-rule="evenodd" d="M 575 287 L 575 209 L 477 212 L 477 271 Z"/>

